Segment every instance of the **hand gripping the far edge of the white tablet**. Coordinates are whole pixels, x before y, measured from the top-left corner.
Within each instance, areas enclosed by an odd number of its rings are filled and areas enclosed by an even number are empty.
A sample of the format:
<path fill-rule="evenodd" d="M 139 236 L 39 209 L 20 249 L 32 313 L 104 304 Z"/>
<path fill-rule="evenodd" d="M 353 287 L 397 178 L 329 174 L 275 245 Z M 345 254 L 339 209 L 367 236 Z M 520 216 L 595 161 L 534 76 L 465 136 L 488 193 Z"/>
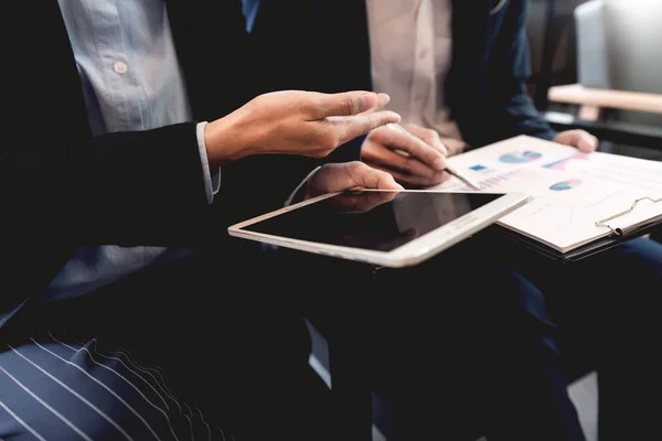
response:
<path fill-rule="evenodd" d="M 307 182 L 305 198 L 352 189 L 403 190 L 391 174 L 353 161 L 323 165 Z"/>

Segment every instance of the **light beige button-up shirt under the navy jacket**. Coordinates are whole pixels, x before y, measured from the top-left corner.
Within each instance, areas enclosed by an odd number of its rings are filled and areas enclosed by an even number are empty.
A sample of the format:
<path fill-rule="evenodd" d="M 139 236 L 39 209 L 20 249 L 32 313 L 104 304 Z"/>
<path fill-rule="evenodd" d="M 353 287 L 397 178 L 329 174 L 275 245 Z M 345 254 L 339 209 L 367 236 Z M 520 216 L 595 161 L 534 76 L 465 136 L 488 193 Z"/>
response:
<path fill-rule="evenodd" d="M 452 62 L 450 0 L 366 0 L 373 88 L 403 122 L 437 130 L 452 152 L 466 146 L 450 118 L 445 83 Z"/>

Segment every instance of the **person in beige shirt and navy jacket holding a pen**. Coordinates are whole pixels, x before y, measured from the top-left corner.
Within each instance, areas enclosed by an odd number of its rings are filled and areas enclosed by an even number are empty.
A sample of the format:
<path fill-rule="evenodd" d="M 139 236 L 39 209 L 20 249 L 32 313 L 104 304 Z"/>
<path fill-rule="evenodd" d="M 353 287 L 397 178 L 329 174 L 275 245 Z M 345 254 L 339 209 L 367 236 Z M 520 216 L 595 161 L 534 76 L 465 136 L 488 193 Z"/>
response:
<path fill-rule="evenodd" d="M 403 185 L 438 184 L 447 178 L 448 155 L 517 135 L 584 152 L 598 147 L 598 140 L 586 131 L 554 131 L 527 95 L 525 0 L 480 4 L 244 0 L 244 6 L 260 68 L 268 72 L 275 89 L 330 93 L 360 88 L 391 95 L 388 108 L 402 115 L 404 127 L 414 137 L 383 127 L 339 148 L 333 155 L 360 159 L 388 171 Z M 636 239 L 569 266 L 556 266 L 502 243 L 491 246 L 499 247 L 499 252 L 490 254 L 493 261 L 506 262 L 530 288 L 545 294 L 572 364 L 598 368 L 600 439 L 647 439 L 652 430 L 648 421 L 653 420 L 647 416 L 658 409 L 649 404 L 655 402 L 653 397 L 662 389 L 653 374 L 660 362 L 650 349 L 660 329 L 650 316 L 654 309 L 642 305 L 653 304 L 662 282 L 662 246 Z M 483 243 L 477 252 L 484 254 L 489 247 Z M 479 273 L 472 255 L 463 262 L 457 265 L 457 271 L 468 273 L 472 268 Z M 442 262 L 427 267 L 431 275 L 419 277 L 430 283 L 438 280 L 441 268 L 447 269 Z M 626 292 L 633 298 L 616 300 Z M 628 325 L 615 330 L 612 318 L 626 320 Z M 544 329 L 533 326 L 533 335 Z M 420 335 L 427 334 L 418 333 L 416 338 Z M 545 336 L 537 337 L 544 346 Z M 621 362 L 623 354 L 629 357 L 627 365 Z"/>

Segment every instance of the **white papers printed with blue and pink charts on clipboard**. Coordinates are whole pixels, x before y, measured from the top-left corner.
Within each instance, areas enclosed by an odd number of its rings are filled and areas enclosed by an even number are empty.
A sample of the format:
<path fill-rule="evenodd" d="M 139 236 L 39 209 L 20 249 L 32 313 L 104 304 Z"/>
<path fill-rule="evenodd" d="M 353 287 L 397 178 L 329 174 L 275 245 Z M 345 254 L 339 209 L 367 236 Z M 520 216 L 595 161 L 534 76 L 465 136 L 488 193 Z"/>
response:
<path fill-rule="evenodd" d="M 528 194 L 528 204 L 499 224 L 560 252 L 662 220 L 662 162 L 585 154 L 526 136 L 459 154 L 449 162 L 482 191 Z M 434 189 L 473 191 L 457 178 Z"/>

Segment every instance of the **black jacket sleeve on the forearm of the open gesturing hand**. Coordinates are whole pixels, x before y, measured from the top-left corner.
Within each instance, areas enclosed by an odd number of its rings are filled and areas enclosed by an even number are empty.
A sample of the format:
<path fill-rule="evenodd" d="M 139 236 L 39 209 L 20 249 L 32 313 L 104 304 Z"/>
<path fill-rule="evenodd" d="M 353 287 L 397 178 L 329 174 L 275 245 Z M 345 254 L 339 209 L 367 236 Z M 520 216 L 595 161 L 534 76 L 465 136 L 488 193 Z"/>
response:
<path fill-rule="evenodd" d="M 195 123 L 76 144 L 30 136 L 0 130 L 3 227 L 81 245 L 183 246 L 209 234 Z"/>

